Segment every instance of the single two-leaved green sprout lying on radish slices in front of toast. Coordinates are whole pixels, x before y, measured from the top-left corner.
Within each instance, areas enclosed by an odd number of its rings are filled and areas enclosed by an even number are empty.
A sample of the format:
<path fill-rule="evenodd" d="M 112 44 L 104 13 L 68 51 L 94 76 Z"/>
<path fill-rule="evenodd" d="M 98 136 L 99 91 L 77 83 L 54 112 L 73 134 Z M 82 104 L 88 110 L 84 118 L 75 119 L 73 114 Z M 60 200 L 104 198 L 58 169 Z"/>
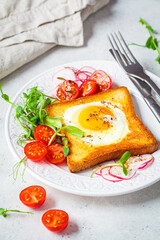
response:
<path fill-rule="evenodd" d="M 129 151 L 125 152 L 122 157 L 120 158 L 120 160 L 116 163 L 113 163 L 113 164 L 106 164 L 106 165 L 103 165 L 99 168 L 97 168 L 96 170 L 94 170 L 94 172 L 91 174 L 91 178 L 93 177 L 93 175 L 100 169 L 104 168 L 104 167 L 113 167 L 113 166 L 119 166 L 123 169 L 123 173 L 125 176 L 128 175 L 128 171 L 125 167 L 125 163 L 127 162 L 127 160 L 130 158 L 131 156 L 131 153 Z"/>

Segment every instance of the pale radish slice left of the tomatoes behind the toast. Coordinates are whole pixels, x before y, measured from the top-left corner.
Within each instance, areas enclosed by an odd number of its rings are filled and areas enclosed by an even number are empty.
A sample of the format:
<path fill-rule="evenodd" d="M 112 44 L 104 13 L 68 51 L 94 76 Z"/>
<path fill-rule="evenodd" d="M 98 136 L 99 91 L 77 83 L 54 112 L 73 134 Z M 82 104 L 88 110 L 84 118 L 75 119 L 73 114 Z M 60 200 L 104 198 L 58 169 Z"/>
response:
<path fill-rule="evenodd" d="M 58 78 L 64 78 L 66 80 L 72 80 L 75 81 L 76 80 L 76 76 L 74 74 L 74 72 L 71 69 L 68 68 L 63 68 L 57 72 L 55 72 L 52 76 L 52 81 L 53 81 L 53 97 L 56 97 L 56 90 L 57 90 L 57 86 L 63 82 L 63 80 L 60 80 Z"/>

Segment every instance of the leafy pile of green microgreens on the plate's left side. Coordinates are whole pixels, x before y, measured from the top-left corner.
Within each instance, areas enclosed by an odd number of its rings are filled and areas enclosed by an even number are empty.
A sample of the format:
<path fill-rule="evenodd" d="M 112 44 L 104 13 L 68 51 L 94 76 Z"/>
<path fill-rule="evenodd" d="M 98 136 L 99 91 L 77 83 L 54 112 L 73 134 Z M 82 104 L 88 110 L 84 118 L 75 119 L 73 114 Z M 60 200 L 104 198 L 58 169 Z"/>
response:
<path fill-rule="evenodd" d="M 53 104 L 57 102 L 58 100 L 50 97 L 38 90 L 38 87 L 32 87 L 30 89 L 27 89 L 26 92 L 23 92 L 22 96 L 22 104 L 21 105 L 16 105 L 12 103 L 9 100 L 9 96 L 7 94 L 4 94 L 0 85 L 0 92 L 1 92 L 1 97 L 8 103 L 10 103 L 12 106 L 15 107 L 15 117 L 23 129 L 24 133 L 19 136 L 19 139 L 17 140 L 17 144 L 21 147 L 24 147 L 28 141 L 34 141 L 34 129 L 38 125 L 47 125 L 51 127 L 54 130 L 54 134 L 50 139 L 50 142 L 48 145 L 50 145 L 54 139 L 54 137 L 61 136 L 65 137 L 65 134 L 62 130 L 65 130 L 66 132 L 77 136 L 77 137 L 82 137 L 83 132 L 78 129 L 77 127 L 67 125 L 67 126 L 62 126 L 62 121 L 61 119 L 63 116 L 57 116 L 57 117 L 50 117 L 47 116 L 47 111 L 45 107 L 47 105 Z M 52 101 L 51 101 L 52 100 Z M 63 152 L 64 156 L 66 157 L 69 153 L 69 148 L 68 148 L 68 140 L 67 138 L 64 138 L 64 146 L 63 146 Z M 22 165 L 24 164 L 24 169 L 22 172 L 22 179 L 24 176 L 24 172 L 26 169 L 26 156 L 19 162 L 17 162 L 13 166 L 13 179 L 16 181 L 19 169 Z M 24 179 L 23 179 L 24 181 Z"/>

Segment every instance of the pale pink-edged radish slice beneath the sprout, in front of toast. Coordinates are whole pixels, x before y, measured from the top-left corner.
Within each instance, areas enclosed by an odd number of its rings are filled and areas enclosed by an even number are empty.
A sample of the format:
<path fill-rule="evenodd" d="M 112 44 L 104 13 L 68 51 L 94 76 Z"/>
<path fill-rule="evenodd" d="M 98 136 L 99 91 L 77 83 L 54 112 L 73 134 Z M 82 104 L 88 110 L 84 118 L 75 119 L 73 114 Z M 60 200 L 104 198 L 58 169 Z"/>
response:
<path fill-rule="evenodd" d="M 121 179 L 121 180 L 129 180 L 136 174 L 136 172 L 137 171 L 135 171 L 135 170 L 130 170 L 130 171 L 128 171 L 128 175 L 125 176 L 125 174 L 123 173 L 122 167 L 112 166 L 109 169 L 108 174 L 111 177 L 115 177 L 115 178 L 118 178 L 118 179 Z"/>

